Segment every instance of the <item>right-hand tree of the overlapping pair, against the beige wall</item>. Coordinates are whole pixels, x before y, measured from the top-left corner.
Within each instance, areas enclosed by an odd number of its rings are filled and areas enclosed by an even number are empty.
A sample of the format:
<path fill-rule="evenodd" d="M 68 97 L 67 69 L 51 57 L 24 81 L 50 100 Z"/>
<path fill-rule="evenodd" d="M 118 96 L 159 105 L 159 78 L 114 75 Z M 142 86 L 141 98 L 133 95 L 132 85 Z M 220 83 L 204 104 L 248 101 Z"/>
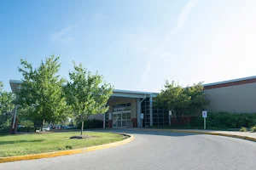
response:
<path fill-rule="evenodd" d="M 203 89 L 204 87 L 202 82 L 197 84 L 194 83 L 192 86 L 188 86 L 184 89 L 184 93 L 190 98 L 187 110 L 183 112 L 183 114 L 186 116 L 188 125 L 190 122 L 190 116 L 195 114 L 196 111 L 202 111 L 204 106 L 210 104 L 210 100 L 206 98 Z"/>

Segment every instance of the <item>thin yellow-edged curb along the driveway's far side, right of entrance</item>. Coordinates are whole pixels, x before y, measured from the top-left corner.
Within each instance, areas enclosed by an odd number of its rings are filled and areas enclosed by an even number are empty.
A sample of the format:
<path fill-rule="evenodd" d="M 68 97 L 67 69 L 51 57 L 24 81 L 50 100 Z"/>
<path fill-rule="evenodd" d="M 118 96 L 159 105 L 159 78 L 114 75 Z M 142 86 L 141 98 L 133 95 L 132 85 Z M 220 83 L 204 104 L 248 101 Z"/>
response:
<path fill-rule="evenodd" d="M 229 133 L 214 133 L 214 132 L 202 132 L 202 131 L 193 131 L 193 130 L 174 130 L 174 129 L 136 129 L 137 131 L 154 131 L 154 132 L 172 132 L 172 133 L 197 133 L 197 134 L 209 134 L 209 135 L 218 135 L 218 136 L 226 136 L 230 138 L 237 139 L 246 139 L 253 142 L 256 142 L 256 138 L 241 136 L 237 134 L 229 134 Z"/>

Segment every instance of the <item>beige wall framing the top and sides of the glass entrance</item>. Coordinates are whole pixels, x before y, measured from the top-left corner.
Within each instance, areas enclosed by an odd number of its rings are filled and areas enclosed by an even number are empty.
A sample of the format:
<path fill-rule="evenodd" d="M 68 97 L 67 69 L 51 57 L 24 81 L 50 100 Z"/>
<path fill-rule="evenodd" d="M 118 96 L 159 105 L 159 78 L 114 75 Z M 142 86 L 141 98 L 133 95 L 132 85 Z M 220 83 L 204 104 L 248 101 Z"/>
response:
<path fill-rule="evenodd" d="M 131 118 L 137 118 L 137 99 L 135 98 L 119 98 L 116 97 L 108 101 L 108 113 L 113 112 L 113 105 L 131 103 Z"/>

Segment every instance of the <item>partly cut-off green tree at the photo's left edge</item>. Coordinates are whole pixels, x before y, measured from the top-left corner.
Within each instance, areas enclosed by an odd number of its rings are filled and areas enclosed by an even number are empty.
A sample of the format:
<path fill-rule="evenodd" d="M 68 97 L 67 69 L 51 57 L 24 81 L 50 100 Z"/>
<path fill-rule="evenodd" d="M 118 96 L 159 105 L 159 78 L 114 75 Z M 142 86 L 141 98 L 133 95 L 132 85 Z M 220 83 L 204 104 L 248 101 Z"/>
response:
<path fill-rule="evenodd" d="M 10 125 L 11 112 L 14 108 L 14 95 L 3 91 L 3 82 L 0 82 L 0 126 Z"/>

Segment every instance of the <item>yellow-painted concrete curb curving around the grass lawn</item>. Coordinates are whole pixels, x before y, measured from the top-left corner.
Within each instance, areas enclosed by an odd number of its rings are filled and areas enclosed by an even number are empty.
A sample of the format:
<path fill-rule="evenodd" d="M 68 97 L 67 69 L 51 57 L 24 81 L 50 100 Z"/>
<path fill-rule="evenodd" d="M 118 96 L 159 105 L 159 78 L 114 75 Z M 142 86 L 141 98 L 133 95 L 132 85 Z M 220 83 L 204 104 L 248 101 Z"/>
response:
<path fill-rule="evenodd" d="M 122 144 L 127 144 L 134 139 L 134 136 L 131 134 L 126 134 L 126 133 L 119 133 L 119 134 L 129 136 L 129 138 L 118 141 L 118 142 L 113 142 L 110 144 L 101 144 L 101 145 L 90 146 L 87 148 L 81 148 L 81 149 L 75 149 L 75 150 L 62 150 L 62 151 L 54 151 L 54 152 L 48 152 L 48 153 L 42 153 L 42 154 L 32 154 L 32 155 L 26 155 L 26 156 L 0 157 L 0 163 L 8 162 L 8 161 L 23 161 L 23 160 L 48 158 L 48 157 L 55 157 L 55 156 L 67 156 L 67 155 L 72 155 L 72 154 L 90 152 L 90 151 L 94 151 L 94 150 L 102 150 L 102 149 L 106 149 L 106 148 L 112 148 L 115 146 L 119 146 Z"/>

